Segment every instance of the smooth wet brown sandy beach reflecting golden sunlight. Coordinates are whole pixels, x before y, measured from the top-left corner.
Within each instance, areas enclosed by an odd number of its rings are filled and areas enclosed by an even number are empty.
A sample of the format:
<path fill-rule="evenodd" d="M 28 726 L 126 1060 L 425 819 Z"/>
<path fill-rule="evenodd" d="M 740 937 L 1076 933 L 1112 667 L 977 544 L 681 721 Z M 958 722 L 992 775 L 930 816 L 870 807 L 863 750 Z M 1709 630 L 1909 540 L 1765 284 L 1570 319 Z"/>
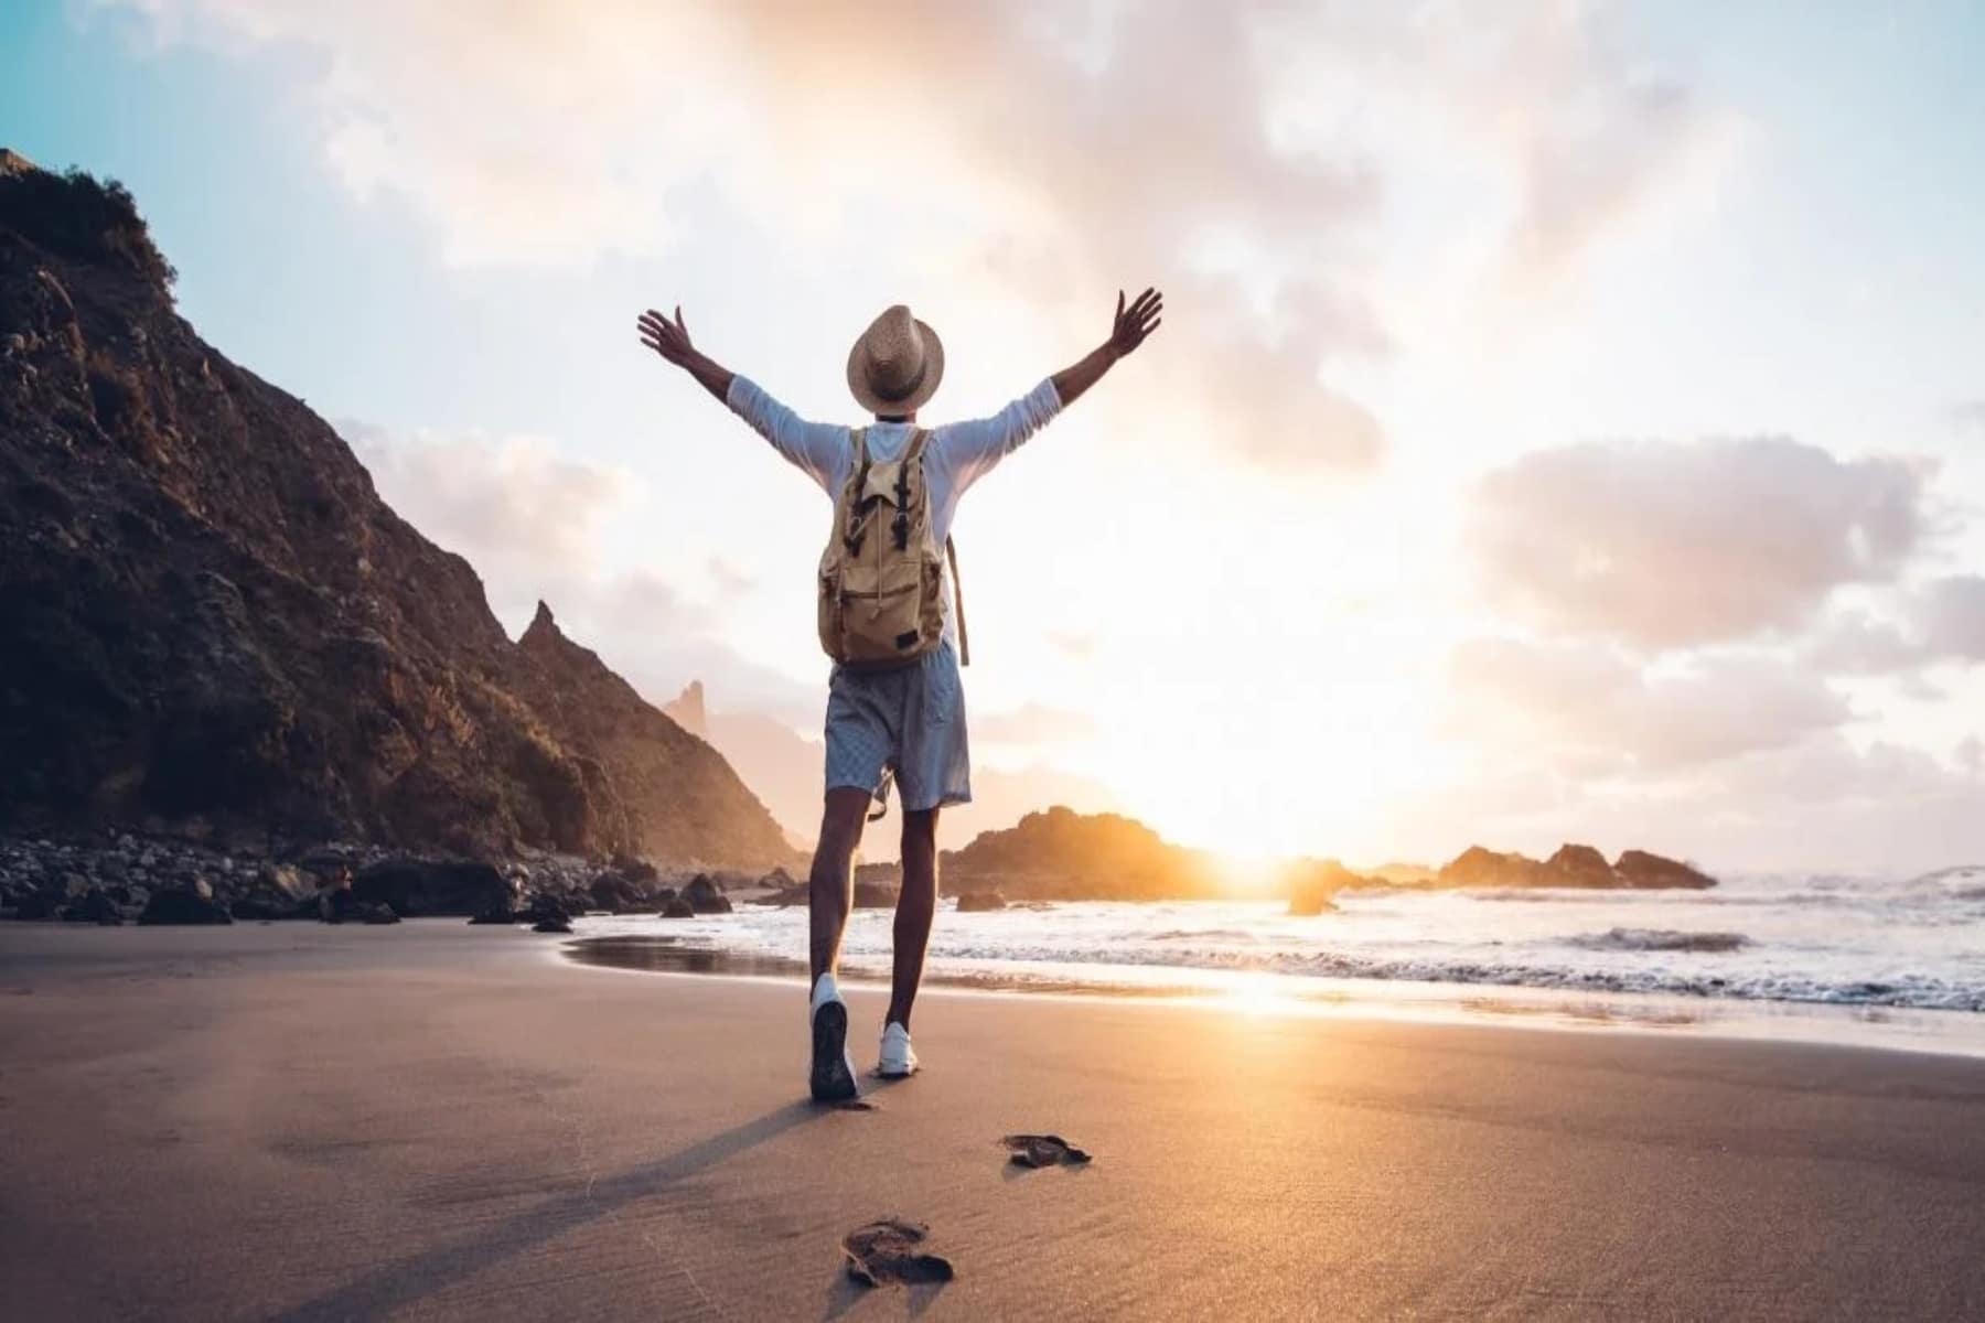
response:
<path fill-rule="evenodd" d="M 0 930 L 6 1313 L 1985 1311 L 1981 1061 L 933 992 L 925 1071 L 818 1111 L 796 982 L 556 940 Z M 881 1214 L 957 1279 L 854 1285 Z"/>

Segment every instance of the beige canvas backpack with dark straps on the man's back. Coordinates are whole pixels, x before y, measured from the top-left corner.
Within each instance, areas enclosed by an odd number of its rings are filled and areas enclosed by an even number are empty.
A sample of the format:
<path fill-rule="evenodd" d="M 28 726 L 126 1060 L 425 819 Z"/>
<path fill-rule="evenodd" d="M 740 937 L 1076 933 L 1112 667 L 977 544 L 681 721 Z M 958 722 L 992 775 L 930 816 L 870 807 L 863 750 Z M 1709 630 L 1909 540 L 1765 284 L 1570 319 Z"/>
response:
<path fill-rule="evenodd" d="M 834 498 L 834 536 L 820 555 L 820 647 L 854 670 L 893 670 L 937 649 L 945 629 L 945 573 L 931 540 L 931 500 L 923 482 L 917 428 L 899 460 L 871 460 L 867 428 L 854 432 L 856 464 Z M 959 553 L 945 540 L 951 581 Z M 959 653 L 965 647 L 965 591 L 957 595 Z"/>

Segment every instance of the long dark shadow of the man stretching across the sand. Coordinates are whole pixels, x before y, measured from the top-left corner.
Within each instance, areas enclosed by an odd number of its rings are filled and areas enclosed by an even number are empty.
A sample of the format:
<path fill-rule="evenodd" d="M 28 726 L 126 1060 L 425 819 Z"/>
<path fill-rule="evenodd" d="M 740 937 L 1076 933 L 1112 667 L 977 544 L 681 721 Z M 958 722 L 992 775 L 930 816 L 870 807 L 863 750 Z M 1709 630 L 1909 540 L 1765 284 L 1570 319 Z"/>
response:
<path fill-rule="evenodd" d="M 734 1158 L 746 1148 L 830 1115 L 834 1115 L 830 1109 L 814 1107 L 812 1103 L 788 1103 L 756 1121 L 734 1125 L 665 1158 L 635 1166 L 619 1176 L 597 1180 L 586 1190 L 544 1200 L 508 1222 L 478 1230 L 474 1240 L 409 1254 L 407 1258 L 383 1263 L 355 1281 L 347 1281 L 276 1317 L 304 1323 L 314 1319 L 373 1319 L 393 1313 L 492 1263 L 564 1236 L 578 1226 L 605 1218 L 635 1200 L 659 1194 L 679 1180 Z M 854 1283 L 848 1285 L 860 1291 Z M 921 1307 L 913 1305 L 913 1311 L 921 1311 Z"/>

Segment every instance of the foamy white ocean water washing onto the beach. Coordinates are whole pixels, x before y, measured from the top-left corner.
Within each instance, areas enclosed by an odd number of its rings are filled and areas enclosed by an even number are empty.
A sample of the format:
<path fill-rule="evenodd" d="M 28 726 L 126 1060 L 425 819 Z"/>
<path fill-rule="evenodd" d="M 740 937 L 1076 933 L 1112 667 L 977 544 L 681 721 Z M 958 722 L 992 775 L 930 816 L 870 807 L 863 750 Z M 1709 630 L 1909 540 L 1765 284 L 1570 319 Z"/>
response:
<path fill-rule="evenodd" d="M 844 964 L 887 976 L 887 910 L 856 910 Z M 592 918 L 754 960 L 806 952 L 806 910 Z M 768 968 L 768 966 L 758 966 Z M 1739 877 L 1713 891 L 1370 891 L 1292 918 L 1268 901 L 1054 902 L 959 914 L 939 982 L 1167 992 L 1405 1014 L 1985 1049 L 1985 867 L 1912 879 Z"/>

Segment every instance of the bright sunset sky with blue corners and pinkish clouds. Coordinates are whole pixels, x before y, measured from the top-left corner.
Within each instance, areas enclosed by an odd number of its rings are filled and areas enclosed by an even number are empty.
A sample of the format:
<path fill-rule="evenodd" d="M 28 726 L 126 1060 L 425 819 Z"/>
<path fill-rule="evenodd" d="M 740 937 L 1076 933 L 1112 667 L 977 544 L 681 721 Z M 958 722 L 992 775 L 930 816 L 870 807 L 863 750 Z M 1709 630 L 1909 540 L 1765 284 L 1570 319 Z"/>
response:
<path fill-rule="evenodd" d="M 0 141 L 657 702 L 818 734 L 828 502 L 641 351 L 927 422 L 973 752 L 1235 855 L 1985 859 L 1985 4 L 20 0 Z"/>

